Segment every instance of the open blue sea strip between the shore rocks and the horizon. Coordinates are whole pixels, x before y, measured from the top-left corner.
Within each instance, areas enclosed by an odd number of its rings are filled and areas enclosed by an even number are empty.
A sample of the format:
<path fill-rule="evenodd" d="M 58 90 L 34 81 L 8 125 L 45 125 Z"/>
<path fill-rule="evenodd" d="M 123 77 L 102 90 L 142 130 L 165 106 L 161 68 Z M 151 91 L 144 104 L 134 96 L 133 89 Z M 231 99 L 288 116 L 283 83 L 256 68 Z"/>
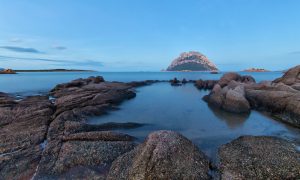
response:
<path fill-rule="evenodd" d="M 246 73 L 257 81 L 273 80 L 282 76 L 281 72 Z M 89 76 L 103 76 L 108 81 L 142 81 L 142 80 L 170 80 L 174 77 L 188 80 L 219 79 L 223 73 L 210 74 L 208 72 L 41 72 L 1 74 L 0 92 L 19 93 L 22 95 L 45 93 L 56 84 L 68 82 L 77 78 Z"/>

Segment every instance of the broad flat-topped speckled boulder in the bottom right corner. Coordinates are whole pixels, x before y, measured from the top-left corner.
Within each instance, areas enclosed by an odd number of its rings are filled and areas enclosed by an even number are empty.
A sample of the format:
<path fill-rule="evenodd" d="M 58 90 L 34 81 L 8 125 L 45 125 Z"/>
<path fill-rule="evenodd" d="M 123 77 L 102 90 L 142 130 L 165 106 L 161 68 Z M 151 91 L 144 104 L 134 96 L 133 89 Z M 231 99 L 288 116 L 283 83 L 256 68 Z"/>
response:
<path fill-rule="evenodd" d="M 219 149 L 221 179 L 299 179 L 300 153 L 282 139 L 242 136 Z"/>

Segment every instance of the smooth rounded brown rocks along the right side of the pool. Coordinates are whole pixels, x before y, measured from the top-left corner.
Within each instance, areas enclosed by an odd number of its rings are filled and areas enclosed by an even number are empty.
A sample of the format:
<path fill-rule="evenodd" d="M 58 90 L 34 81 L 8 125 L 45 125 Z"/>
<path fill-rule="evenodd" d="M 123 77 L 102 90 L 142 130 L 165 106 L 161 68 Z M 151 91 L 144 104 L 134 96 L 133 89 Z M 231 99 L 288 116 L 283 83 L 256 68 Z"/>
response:
<path fill-rule="evenodd" d="M 281 78 L 260 83 L 251 76 L 227 73 L 203 99 L 233 113 L 267 111 L 282 122 L 300 127 L 300 65 Z"/>

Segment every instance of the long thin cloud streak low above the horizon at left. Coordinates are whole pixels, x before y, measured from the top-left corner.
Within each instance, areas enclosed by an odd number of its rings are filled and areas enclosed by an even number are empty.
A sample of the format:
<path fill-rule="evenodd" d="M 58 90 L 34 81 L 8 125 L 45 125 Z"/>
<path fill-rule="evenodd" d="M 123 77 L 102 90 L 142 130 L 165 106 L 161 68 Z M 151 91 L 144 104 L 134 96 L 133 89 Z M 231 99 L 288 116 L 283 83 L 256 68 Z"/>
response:
<path fill-rule="evenodd" d="M 61 59 L 26 58 L 26 57 L 13 57 L 13 56 L 2 56 L 2 55 L 0 55 L 0 60 L 42 61 L 42 62 L 52 62 L 56 64 L 62 64 L 62 65 L 77 65 L 77 66 L 103 66 L 102 62 L 94 61 L 94 60 L 72 61 L 72 60 L 61 60 Z"/>

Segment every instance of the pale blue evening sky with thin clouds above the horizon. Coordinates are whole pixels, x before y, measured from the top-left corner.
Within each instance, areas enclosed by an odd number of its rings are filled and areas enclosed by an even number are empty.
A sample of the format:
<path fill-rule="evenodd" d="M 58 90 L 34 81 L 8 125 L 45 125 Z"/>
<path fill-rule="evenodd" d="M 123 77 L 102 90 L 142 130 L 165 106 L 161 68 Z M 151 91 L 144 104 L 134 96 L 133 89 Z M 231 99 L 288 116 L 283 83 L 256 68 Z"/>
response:
<path fill-rule="evenodd" d="M 199 51 L 222 71 L 300 64 L 299 0 L 0 0 L 0 67 L 160 71 Z"/>

